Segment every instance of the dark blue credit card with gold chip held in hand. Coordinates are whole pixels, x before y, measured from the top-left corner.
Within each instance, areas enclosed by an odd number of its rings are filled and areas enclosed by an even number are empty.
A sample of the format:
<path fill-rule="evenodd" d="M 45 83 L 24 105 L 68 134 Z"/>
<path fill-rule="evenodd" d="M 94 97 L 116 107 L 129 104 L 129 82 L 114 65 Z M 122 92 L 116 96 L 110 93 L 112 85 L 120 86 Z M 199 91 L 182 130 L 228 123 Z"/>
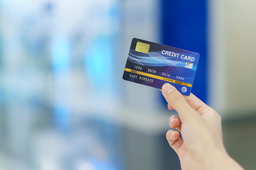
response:
<path fill-rule="evenodd" d="M 189 96 L 199 58 L 195 52 L 134 38 L 123 79 L 158 89 L 170 83 Z"/>

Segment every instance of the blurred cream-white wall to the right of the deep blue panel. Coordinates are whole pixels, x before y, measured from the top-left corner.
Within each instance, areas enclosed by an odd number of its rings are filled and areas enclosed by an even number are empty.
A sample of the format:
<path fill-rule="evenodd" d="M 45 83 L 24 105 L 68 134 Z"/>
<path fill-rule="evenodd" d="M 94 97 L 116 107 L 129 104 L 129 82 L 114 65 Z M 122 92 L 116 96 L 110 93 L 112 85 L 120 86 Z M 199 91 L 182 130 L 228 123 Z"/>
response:
<path fill-rule="evenodd" d="M 223 117 L 256 110 L 256 1 L 209 1 L 210 105 Z"/>

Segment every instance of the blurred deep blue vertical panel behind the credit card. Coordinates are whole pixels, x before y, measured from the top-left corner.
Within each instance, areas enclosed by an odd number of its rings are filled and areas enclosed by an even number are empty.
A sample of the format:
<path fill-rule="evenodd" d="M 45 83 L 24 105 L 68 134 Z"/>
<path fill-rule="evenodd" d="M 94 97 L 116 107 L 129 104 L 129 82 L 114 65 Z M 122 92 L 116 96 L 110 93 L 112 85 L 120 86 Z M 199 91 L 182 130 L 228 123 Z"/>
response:
<path fill-rule="evenodd" d="M 161 6 L 162 43 L 201 54 L 192 92 L 207 103 L 207 1 L 162 0 Z"/>

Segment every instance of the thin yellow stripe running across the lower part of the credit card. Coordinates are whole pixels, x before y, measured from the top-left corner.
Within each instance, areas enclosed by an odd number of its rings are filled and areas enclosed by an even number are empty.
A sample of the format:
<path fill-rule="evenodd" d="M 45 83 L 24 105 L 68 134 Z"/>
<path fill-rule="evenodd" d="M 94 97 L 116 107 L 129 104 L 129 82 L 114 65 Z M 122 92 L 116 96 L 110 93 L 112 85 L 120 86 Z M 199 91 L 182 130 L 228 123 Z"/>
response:
<path fill-rule="evenodd" d="M 175 80 L 175 79 L 164 78 L 164 77 L 157 76 L 157 75 L 150 74 L 150 73 L 146 73 L 146 72 L 140 72 L 140 71 L 137 71 L 137 70 L 132 70 L 130 68 L 125 68 L 125 72 L 136 73 L 136 74 L 146 76 L 146 77 L 149 77 L 149 78 L 160 79 L 160 80 L 167 81 L 167 82 L 170 82 L 170 83 L 175 83 L 175 84 L 178 84 L 178 85 L 185 85 L 185 86 L 188 86 L 188 87 L 192 87 L 192 85 L 189 84 L 189 83 L 184 83 L 182 81 L 178 81 L 178 80 Z"/>

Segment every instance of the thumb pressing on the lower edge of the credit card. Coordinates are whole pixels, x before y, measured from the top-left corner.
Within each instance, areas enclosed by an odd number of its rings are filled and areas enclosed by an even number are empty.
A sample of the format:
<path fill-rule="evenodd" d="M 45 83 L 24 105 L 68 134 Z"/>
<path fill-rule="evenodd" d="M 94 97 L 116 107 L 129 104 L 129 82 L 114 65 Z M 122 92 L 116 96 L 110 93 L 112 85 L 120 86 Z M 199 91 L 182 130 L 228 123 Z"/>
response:
<path fill-rule="evenodd" d="M 188 104 L 187 100 L 173 85 L 164 84 L 162 93 L 167 103 L 178 112 L 182 122 L 195 120 L 199 117 L 199 113 Z"/>

